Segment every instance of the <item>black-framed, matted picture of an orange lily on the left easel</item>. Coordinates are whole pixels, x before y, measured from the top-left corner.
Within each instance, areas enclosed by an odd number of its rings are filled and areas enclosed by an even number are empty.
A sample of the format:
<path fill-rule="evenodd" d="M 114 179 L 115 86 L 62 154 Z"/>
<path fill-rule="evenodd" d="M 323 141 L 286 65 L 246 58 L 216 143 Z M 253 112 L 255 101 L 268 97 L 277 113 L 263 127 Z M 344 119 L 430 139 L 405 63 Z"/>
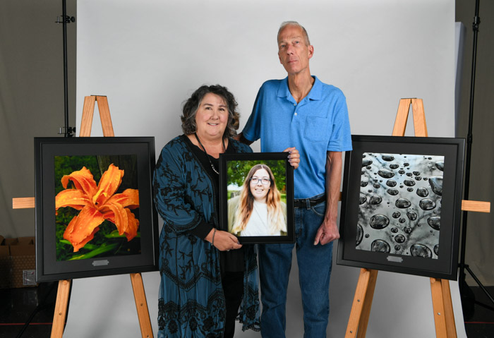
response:
<path fill-rule="evenodd" d="M 155 140 L 35 138 L 37 282 L 157 270 Z"/>

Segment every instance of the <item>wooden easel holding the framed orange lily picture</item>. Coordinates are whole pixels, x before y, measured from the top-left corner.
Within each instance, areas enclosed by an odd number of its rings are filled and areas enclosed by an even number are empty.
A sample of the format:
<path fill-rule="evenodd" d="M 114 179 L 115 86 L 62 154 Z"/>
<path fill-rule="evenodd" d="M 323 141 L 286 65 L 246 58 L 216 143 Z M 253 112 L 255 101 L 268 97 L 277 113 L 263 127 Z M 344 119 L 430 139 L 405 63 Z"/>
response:
<path fill-rule="evenodd" d="M 105 137 L 114 136 L 112 118 L 108 107 L 106 96 L 86 96 L 84 98 L 83 117 L 80 122 L 79 137 L 90 137 L 92 128 L 92 116 L 95 111 L 95 102 L 98 102 L 101 126 Z M 35 207 L 34 198 L 14 198 L 12 201 L 14 209 Z M 131 274 L 132 289 L 135 299 L 135 307 L 139 318 L 140 333 L 143 338 L 152 338 L 152 327 L 147 308 L 146 295 L 144 291 L 143 277 L 140 273 Z M 64 334 L 65 320 L 67 315 L 68 294 L 71 289 L 71 279 L 59 281 L 59 289 L 56 294 L 55 312 L 53 316 L 52 338 L 61 338 Z"/>

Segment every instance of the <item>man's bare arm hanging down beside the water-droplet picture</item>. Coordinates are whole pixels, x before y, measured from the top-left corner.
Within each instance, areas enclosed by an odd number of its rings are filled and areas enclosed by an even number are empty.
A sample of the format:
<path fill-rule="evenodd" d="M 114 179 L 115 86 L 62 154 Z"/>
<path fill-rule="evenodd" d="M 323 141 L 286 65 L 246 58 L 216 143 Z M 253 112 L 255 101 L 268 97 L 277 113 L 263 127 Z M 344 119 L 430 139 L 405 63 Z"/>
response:
<path fill-rule="evenodd" d="M 315 234 L 314 245 L 325 245 L 339 239 L 338 216 L 339 186 L 342 182 L 342 152 L 326 155 L 326 213 L 323 224 Z"/>

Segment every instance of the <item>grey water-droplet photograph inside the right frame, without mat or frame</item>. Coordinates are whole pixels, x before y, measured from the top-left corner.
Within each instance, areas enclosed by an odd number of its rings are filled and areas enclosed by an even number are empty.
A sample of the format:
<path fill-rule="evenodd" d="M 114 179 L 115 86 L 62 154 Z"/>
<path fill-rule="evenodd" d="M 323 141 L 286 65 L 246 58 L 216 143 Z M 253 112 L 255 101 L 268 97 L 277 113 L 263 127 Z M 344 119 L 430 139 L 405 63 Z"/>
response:
<path fill-rule="evenodd" d="M 364 152 L 359 250 L 438 258 L 444 156 Z"/>

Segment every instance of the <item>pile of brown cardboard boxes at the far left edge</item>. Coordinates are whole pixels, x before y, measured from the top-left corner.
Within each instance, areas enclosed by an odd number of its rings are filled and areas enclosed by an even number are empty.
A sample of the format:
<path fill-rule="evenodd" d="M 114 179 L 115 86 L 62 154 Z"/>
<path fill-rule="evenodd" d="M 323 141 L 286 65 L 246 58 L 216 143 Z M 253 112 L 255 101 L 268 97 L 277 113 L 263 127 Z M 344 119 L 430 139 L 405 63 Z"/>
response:
<path fill-rule="evenodd" d="M 4 239 L 0 236 L 0 289 L 36 286 L 34 237 Z"/>

